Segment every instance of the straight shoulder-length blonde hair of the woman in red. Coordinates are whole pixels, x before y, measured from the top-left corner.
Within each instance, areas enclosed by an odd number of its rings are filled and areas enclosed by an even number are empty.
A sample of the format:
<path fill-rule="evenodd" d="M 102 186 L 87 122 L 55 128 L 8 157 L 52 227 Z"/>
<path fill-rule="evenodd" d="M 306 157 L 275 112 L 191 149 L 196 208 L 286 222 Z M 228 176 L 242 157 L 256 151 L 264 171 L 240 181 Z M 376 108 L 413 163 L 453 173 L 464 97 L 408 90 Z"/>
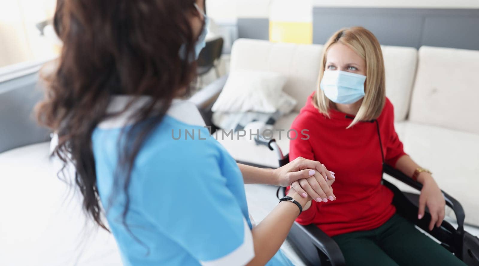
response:
<path fill-rule="evenodd" d="M 332 44 L 341 43 L 353 49 L 366 62 L 365 97 L 350 128 L 360 121 L 370 121 L 379 117 L 386 102 L 386 77 L 381 45 L 373 33 L 363 27 L 344 28 L 334 33 L 324 45 L 319 67 L 318 89 L 313 97 L 313 105 L 320 113 L 329 116 L 332 101 L 321 90 L 319 84 L 326 69 L 326 56 Z"/>

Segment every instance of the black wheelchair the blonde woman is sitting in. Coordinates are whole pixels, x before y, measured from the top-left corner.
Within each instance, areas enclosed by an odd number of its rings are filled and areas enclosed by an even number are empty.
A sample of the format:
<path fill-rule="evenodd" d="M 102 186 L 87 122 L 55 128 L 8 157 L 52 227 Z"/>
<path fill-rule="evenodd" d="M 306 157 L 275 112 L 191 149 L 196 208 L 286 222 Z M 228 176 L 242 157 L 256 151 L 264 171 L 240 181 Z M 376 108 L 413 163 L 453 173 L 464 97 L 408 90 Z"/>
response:
<path fill-rule="evenodd" d="M 288 155 L 283 155 L 283 152 L 274 139 L 266 140 L 262 137 L 257 137 L 255 142 L 256 144 L 267 146 L 271 151 L 275 151 L 278 156 L 279 166 L 284 166 L 289 162 Z M 387 164 L 383 165 L 383 174 L 394 177 L 419 191 L 422 189 L 421 183 L 414 181 L 412 178 Z M 397 213 L 422 230 L 429 232 L 428 226 L 431 221 L 431 215 L 427 212 L 427 208 L 424 217 L 421 220 L 417 219 L 419 195 L 403 192 L 384 178 L 382 183 L 394 193 L 392 203 L 396 207 Z M 286 188 L 278 188 L 276 192 L 278 198 L 280 189 L 282 189 L 283 194 L 285 194 L 286 190 Z M 429 233 L 438 240 L 445 249 L 456 255 L 456 257 L 468 266 L 479 266 L 479 238 L 464 231 L 465 214 L 461 204 L 444 191 L 442 192 L 446 205 L 456 214 L 458 226 L 454 228 L 450 223 L 443 221 L 441 227 L 434 227 L 433 231 Z M 294 222 L 287 239 L 306 265 L 346 265 L 338 244 L 314 224 L 301 225 Z"/>

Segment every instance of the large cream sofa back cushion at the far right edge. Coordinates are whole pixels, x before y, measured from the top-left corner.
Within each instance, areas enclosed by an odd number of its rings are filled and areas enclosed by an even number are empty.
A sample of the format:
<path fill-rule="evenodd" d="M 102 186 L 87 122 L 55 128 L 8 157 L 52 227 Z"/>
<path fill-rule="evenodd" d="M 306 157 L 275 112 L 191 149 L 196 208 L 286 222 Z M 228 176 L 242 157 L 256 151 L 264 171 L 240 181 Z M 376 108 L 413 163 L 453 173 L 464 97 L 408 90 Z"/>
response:
<path fill-rule="evenodd" d="M 478 62 L 479 51 L 422 46 L 410 120 L 479 134 Z"/>

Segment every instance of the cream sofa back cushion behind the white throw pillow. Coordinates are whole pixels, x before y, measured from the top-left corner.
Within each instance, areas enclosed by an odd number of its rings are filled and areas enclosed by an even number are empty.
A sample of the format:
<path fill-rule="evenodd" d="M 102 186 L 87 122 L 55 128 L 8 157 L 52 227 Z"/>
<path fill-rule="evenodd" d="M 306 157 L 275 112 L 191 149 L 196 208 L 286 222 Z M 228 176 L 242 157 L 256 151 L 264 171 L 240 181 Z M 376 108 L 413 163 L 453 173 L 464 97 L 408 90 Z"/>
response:
<path fill-rule="evenodd" d="M 283 91 L 297 100 L 296 111 L 316 90 L 322 45 L 284 44 L 238 39 L 231 50 L 230 71 L 273 71 L 288 78 Z"/>

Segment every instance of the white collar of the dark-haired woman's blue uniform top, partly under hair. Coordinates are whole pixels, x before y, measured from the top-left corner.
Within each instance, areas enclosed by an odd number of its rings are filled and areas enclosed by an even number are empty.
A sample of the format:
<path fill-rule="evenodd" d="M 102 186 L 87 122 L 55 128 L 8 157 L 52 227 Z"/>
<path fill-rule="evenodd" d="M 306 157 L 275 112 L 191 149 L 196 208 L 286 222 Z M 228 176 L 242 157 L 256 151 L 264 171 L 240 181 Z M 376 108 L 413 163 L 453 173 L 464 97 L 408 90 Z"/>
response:
<path fill-rule="evenodd" d="M 151 100 L 149 96 L 131 96 L 131 95 L 116 95 L 112 96 L 107 113 L 120 112 L 125 109 L 128 103 L 133 99 L 135 100 L 132 105 L 120 115 L 108 118 L 98 124 L 98 127 L 101 129 L 113 129 L 120 128 L 128 124 L 128 118 L 131 114 Z M 205 126 L 205 121 L 201 117 L 200 112 L 196 108 L 193 102 L 188 100 L 173 99 L 170 108 L 168 109 L 167 115 L 173 117 L 174 119 L 190 124 L 190 125 L 199 125 Z"/>

